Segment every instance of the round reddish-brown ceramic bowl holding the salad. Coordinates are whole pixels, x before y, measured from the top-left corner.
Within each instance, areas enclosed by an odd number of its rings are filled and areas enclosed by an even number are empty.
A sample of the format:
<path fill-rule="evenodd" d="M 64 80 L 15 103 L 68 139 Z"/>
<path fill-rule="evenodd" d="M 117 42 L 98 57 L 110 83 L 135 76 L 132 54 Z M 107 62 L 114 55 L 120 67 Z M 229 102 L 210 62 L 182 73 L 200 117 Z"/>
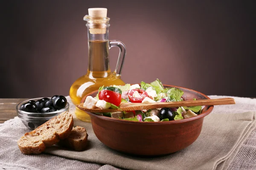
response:
<path fill-rule="evenodd" d="M 209 99 L 208 96 L 188 88 L 164 85 L 165 88 L 180 88 L 185 100 Z M 98 91 L 87 96 L 95 97 Z M 168 122 L 133 122 L 88 113 L 93 131 L 106 146 L 129 154 L 157 156 L 177 152 L 195 142 L 201 133 L 204 116 L 213 106 L 205 106 L 202 113 L 188 119 Z"/>

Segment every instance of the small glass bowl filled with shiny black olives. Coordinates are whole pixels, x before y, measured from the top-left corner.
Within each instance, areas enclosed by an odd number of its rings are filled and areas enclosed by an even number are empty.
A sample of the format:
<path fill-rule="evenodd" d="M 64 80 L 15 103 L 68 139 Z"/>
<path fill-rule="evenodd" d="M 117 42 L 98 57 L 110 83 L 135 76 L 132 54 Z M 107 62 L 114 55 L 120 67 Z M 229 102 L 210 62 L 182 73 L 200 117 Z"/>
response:
<path fill-rule="evenodd" d="M 49 119 L 69 110 L 69 103 L 64 96 L 35 98 L 20 102 L 16 106 L 17 115 L 29 129 L 35 129 Z"/>

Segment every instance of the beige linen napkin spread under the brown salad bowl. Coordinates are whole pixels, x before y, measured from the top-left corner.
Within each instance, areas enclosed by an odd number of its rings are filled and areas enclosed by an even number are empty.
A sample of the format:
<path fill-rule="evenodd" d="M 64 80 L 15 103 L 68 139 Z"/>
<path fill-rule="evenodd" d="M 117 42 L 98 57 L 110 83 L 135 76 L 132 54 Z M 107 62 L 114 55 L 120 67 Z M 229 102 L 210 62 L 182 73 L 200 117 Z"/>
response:
<path fill-rule="evenodd" d="M 201 134 L 192 145 L 167 156 L 151 158 L 126 155 L 106 147 L 96 138 L 90 123 L 75 119 L 75 125 L 87 129 L 87 150 L 76 152 L 52 146 L 45 153 L 134 170 L 223 169 L 229 166 L 244 139 L 255 128 L 255 117 L 256 112 L 210 113 L 204 118 Z"/>

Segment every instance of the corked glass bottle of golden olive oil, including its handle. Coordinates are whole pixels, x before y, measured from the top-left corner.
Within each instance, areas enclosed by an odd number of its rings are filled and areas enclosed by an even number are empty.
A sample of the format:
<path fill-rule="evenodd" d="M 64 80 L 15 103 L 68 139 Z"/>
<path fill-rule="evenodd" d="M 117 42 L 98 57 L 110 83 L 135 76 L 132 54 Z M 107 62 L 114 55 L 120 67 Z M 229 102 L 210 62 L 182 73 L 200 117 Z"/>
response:
<path fill-rule="evenodd" d="M 90 8 L 95 9 L 95 8 Z M 120 41 L 108 40 L 109 18 L 106 8 L 89 9 L 89 15 L 84 17 L 88 27 L 88 68 L 87 74 L 77 79 L 70 88 L 70 98 L 74 105 L 84 102 L 84 96 L 96 91 L 100 86 L 125 85 L 120 79 L 125 58 L 125 45 Z M 100 12 L 95 14 L 95 11 Z M 105 10 L 102 13 L 102 10 Z M 94 13 L 93 13 L 93 12 Z M 97 15 L 98 14 L 98 15 Z M 101 16 L 99 16 L 101 15 Z M 102 16 L 103 15 L 103 16 Z M 111 72 L 108 51 L 111 47 L 119 47 L 120 54 L 116 70 Z M 76 117 L 82 121 L 90 122 L 90 116 L 76 107 Z"/>

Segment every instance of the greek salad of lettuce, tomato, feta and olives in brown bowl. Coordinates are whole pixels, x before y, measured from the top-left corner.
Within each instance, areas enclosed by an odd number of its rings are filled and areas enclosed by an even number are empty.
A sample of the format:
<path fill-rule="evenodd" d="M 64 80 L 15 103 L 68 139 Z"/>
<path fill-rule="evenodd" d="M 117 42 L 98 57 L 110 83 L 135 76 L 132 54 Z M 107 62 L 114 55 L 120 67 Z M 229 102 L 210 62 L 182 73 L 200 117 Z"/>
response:
<path fill-rule="evenodd" d="M 102 86 L 99 88 L 96 97 L 87 96 L 84 102 L 84 107 L 88 109 L 116 108 L 120 111 L 96 114 L 138 122 L 180 120 L 200 114 L 202 106 L 157 108 L 143 111 L 122 111 L 122 108 L 120 108 L 123 103 L 127 102 L 154 103 L 182 101 L 182 95 L 182 90 L 178 88 L 164 88 L 162 82 L 157 79 L 149 84 L 141 82 L 140 85 L 125 84 L 122 86 Z"/>

